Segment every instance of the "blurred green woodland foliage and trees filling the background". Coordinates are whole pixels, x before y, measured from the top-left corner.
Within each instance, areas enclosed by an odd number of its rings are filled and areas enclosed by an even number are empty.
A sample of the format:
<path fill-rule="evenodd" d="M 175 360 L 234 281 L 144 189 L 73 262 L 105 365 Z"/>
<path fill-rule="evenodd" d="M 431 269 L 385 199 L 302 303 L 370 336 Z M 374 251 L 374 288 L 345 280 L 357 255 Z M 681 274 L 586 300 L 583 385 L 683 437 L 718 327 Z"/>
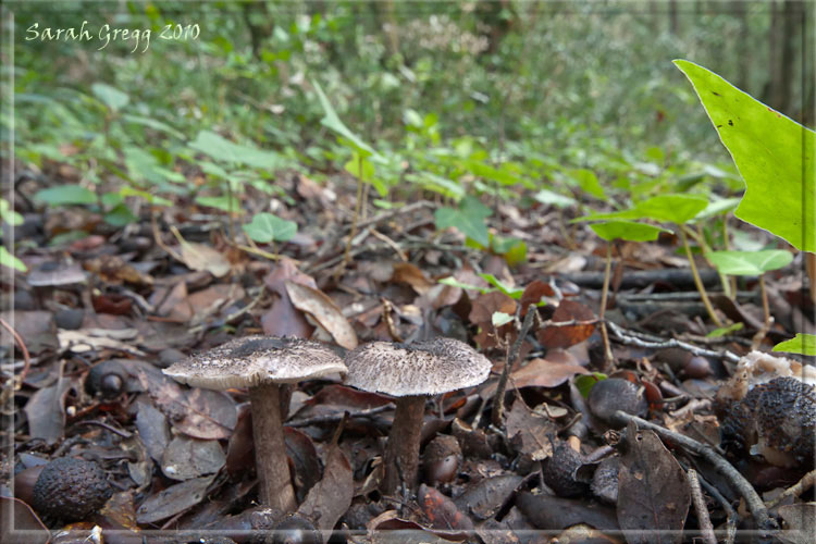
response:
<path fill-rule="evenodd" d="M 802 57 L 813 45 L 803 34 L 813 33 L 804 23 L 812 13 L 790 0 L 72 1 L 7 10 L 16 34 L 17 158 L 67 161 L 86 183 L 113 176 L 135 190 L 158 186 L 153 194 L 188 193 L 193 166 L 234 183 L 259 169 L 347 164 L 355 148 L 321 125 L 316 83 L 386 158 L 373 182 L 388 198 L 406 176 L 456 200 L 457 184 L 603 198 L 588 193 L 598 181 L 656 193 L 730 177 L 726 193 L 739 190 L 676 58 L 813 120 L 813 63 Z M 150 48 L 24 40 L 33 23 L 78 28 L 84 20 L 152 28 Z M 164 24 L 197 24 L 200 36 L 160 40 Z M 201 151 L 219 159 L 215 137 L 238 154 L 267 153 L 265 162 L 202 162 Z M 120 203 L 110 198 L 108 210 Z"/>

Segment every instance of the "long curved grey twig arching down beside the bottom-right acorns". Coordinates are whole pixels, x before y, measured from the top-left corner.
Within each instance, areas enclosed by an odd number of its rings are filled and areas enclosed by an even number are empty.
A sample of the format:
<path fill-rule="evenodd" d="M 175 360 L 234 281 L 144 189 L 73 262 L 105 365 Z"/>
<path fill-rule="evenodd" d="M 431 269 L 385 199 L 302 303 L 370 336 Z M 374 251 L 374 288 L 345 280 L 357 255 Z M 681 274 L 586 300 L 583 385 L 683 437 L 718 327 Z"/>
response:
<path fill-rule="evenodd" d="M 778 530 L 779 526 L 776 520 L 768 515 L 768 509 L 765 507 L 765 503 L 756 493 L 756 490 L 745 480 L 745 478 L 735 469 L 733 466 L 724 459 L 719 454 L 705 444 L 702 444 L 684 434 L 669 431 L 668 429 L 651 423 L 642 418 L 632 416 L 621 410 L 615 412 L 615 419 L 621 422 L 634 422 L 641 429 L 648 429 L 654 431 L 662 438 L 669 440 L 675 444 L 679 445 L 683 449 L 697 454 L 703 457 L 706 461 L 714 466 L 717 471 L 722 474 L 731 483 L 731 486 L 737 490 L 745 499 L 751 515 L 754 518 L 754 522 L 757 528 L 762 531 Z"/>

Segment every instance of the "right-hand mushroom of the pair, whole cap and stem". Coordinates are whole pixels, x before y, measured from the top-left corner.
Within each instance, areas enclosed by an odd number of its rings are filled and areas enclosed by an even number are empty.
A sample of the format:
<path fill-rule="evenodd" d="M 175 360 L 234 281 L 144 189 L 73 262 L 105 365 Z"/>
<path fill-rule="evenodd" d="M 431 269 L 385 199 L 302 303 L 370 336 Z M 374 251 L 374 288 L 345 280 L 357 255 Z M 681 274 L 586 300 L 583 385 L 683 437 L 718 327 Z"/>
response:
<path fill-rule="evenodd" d="M 372 342 L 346 355 L 346 383 L 396 398 L 394 424 L 385 448 L 381 491 L 394 494 L 401 482 L 417 484 L 420 432 L 429 395 L 478 385 L 487 379 L 491 361 L 453 338 L 412 344 Z"/>

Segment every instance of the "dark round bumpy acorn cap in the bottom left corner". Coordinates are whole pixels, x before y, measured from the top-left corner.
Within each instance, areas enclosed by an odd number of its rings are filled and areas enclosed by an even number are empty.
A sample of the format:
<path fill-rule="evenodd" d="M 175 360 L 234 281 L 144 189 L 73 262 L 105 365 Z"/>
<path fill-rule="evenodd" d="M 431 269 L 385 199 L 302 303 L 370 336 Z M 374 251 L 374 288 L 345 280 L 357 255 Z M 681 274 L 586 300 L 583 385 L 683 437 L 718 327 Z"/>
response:
<path fill-rule="evenodd" d="M 53 519 L 78 521 L 98 510 L 113 494 L 96 462 L 60 457 L 47 463 L 34 484 L 34 508 Z"/>

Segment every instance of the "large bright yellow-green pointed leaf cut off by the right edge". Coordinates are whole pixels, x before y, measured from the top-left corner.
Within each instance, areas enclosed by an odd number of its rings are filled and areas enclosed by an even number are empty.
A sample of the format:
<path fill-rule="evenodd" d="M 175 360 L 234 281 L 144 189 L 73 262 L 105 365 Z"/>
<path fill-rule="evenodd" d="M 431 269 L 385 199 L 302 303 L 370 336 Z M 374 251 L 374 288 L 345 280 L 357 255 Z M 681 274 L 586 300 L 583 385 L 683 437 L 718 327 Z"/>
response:
<path fill-rule="evenodd" d="M 697 64 L 676 60 L 745 181 L 734 214 L 816 251 L 814 132 Z"/>

